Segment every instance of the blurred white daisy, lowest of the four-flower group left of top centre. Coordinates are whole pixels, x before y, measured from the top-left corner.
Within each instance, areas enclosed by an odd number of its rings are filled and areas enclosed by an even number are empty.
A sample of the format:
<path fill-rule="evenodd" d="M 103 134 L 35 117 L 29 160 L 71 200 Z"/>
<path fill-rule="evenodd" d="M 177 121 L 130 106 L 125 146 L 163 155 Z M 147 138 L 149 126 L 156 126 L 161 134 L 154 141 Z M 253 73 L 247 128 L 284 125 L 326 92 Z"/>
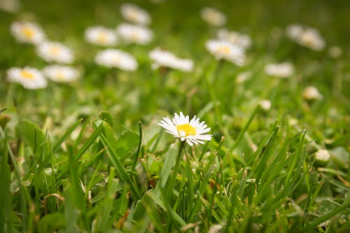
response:
<path fill-rule="evenodd" d="M 137 61 L 132 55 L 116 49 L 102 50 L 97 53 L 94 60 L 99 65 L 109 68 L 116 67 L 124 71 L 134 71 L 138 67 Z"/>

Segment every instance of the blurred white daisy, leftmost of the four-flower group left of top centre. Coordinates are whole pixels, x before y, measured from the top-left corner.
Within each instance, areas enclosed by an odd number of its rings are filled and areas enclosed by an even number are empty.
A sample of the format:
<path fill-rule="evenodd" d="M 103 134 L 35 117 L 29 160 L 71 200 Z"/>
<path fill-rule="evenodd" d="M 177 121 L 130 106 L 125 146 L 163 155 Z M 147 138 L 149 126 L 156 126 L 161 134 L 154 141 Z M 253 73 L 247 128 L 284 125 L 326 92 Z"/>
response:
<path fill-rule="evenodd" d="M 94 26 L 85 30 L 85 40 L 94 45 L 116 45 L 118 38 L 113 29 Z"/>

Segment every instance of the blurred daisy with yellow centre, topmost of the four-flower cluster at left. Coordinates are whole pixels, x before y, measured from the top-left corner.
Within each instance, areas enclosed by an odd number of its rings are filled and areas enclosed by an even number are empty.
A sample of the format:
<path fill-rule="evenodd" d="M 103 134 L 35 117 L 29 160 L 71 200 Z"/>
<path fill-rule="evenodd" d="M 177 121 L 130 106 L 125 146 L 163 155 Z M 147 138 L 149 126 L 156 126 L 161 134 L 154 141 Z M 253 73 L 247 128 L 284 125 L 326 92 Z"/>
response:
<path fill-rule="evenodd" d="M 20 43 L 38 44 L 45 40 L 43 29 L 33 22 L 13 22 L 10 30 Z"/>

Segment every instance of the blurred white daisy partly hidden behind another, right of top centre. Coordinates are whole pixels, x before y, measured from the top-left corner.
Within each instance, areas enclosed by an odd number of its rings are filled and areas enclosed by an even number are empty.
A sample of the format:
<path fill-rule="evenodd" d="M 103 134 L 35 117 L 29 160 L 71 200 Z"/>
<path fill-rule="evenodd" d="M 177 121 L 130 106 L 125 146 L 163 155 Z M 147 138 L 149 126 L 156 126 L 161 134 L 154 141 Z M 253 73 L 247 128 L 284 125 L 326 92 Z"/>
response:
<path fill-rule="evenodd" d="M 228 31 L 227 29 L 218 30 L 217 36 L 223 41 L 228 41 L 232 45 L 237 45 L 247 49 L 251 47 L 251 37 L 247 34 L 241 34 L 237 31 Z"/>

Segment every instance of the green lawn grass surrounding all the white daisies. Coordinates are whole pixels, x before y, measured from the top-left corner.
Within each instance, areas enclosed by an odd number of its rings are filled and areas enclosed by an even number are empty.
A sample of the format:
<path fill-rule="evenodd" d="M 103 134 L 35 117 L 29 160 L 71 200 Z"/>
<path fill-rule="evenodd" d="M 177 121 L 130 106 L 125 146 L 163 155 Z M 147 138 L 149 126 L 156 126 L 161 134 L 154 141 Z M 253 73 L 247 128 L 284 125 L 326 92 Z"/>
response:
<path fill-rule="evenodd" d="M 139 62 L 127 73 L 94 64 L 99 48 L 83 40 L 88 26 L 122 22 L 121 3 L 23 1 L 20 13 L 1 11 L 0 232 L 349 232 L 349 4 L 140 1 L 155 38 L 118 46 Z M 245 66 L 205 50 L 216 30 L 200 19 L 203 6 L 251 35 Z M 10 67 L 46 64 L 10 35 L 18 19 L 71 46 L 80 79 L 43 90 L 8 83 Z M 294 22 L 320 29 L 342 57 L 290 41 L 283 30 Z M 161 80 L 148 58 L 158 45 L 195 70 Z M 264 73 L 283 61 L 295 75 Z M 244 71 L 251 79 L 237 83 Z M 308 85 L 323 99 L 303 99 Z M 161 118 L 179 111 L 205 120 L 213 139 L 190 147 L 163 132 Z M 327 164 L 314 159 L 318 149 L 330 152 Z"/>

